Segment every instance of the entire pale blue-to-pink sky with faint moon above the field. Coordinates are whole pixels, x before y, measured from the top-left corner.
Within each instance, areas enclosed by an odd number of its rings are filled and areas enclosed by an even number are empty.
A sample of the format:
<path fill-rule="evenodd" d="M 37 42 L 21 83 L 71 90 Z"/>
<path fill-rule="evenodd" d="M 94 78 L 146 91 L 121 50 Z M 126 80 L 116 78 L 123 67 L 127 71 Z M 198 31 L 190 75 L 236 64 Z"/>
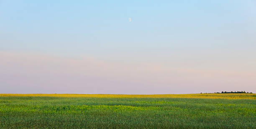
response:
<path fill-rule="evenodd" d="M 0 0 L 0 94 L 256 92 L 255 0 Z"/>

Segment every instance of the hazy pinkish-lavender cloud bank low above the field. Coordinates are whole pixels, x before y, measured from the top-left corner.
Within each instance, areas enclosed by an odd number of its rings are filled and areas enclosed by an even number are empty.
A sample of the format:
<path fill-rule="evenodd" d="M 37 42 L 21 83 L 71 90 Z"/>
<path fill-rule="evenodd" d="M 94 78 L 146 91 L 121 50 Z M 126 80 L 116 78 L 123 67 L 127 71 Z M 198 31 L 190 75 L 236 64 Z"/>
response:
<path fill-rule="evenodd" d="M 1 93 L 178 94 L 252 91 L 256 83 L 254 73 L 178 68 L 163 63 L 9 52 L 0 52 L 0 60 Z"/>

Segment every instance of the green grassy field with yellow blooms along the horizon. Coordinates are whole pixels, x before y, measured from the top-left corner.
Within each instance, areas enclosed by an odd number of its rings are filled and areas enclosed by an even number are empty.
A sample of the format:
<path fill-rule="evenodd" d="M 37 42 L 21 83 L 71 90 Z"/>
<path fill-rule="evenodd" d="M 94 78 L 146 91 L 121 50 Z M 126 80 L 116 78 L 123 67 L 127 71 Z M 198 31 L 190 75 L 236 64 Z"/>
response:
<path fill-rule="evenodd" d="M 256 129 L 256 94 L 0 94 L 0 128 Z"/>

